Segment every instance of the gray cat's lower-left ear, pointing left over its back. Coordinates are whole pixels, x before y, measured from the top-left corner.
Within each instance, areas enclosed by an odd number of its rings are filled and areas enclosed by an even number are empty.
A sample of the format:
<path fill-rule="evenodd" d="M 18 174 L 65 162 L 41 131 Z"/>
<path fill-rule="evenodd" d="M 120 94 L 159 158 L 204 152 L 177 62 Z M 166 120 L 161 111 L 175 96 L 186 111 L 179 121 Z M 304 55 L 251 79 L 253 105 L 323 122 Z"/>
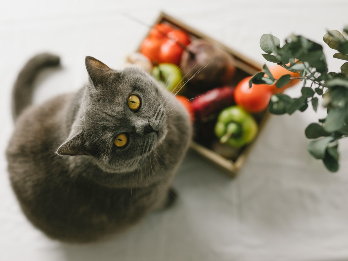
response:
<path fill-rule="evenodd" d="M 88 155 L 84 147 L 84 134 L 80 132 L 64 142 L 61 147 L 58 148 L 57 154 L 60 156 Z"/>

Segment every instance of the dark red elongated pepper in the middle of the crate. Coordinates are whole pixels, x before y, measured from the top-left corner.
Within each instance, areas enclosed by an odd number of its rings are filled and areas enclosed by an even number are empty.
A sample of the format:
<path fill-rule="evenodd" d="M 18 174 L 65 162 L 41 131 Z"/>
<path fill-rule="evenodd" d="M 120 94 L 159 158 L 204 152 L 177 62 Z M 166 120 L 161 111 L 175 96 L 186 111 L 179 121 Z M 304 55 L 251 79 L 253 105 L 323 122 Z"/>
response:
<path fill-rule="evenodd" d="M 192 109 L 198 120 L 234 104 L 234 87 L 224 86 L 208 90 L 192 100 Z"/>

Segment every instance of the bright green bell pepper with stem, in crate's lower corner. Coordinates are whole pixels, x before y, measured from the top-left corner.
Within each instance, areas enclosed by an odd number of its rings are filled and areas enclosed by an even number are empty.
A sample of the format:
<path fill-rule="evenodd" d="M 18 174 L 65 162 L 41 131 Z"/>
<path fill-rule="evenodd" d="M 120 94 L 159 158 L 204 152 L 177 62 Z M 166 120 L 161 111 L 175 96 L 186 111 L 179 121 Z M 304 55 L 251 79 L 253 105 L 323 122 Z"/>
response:
<path fill-rule="evenodd" d="M 254 118 L 239 106 L 230 106 L 219 114 L 215 134 L 221 143 L 239 148 L 252 142 L 258 132 Z"/>

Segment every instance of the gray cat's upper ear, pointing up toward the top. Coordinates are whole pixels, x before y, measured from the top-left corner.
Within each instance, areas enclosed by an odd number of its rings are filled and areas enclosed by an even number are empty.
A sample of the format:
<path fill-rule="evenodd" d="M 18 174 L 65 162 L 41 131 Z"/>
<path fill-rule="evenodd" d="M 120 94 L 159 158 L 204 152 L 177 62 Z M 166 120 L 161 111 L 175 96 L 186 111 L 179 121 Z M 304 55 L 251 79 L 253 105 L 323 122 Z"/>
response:
<path fill-rule="evenodd" d="M 106 64 L 91 56 L 86 56 L 85 64 L 89 78 L 96 88 L 98 88 L 98 86 L 100 85 L 103 85 L 103 82 L 106 78 L 108 78 L 108 76 L 116 73 Z"/>

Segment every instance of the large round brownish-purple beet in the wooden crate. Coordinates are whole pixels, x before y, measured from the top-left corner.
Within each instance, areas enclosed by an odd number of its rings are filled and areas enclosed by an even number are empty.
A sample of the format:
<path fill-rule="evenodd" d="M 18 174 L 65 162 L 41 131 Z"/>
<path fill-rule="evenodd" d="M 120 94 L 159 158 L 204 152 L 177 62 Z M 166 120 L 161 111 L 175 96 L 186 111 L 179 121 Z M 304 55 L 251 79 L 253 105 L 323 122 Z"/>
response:
<path fill-rule="evenodd" d="M 221 47 L 196 39 L 182 54 L 181 70 L 191 85 L 207 90 L 229 84 L 236 67 L 234 58 Z"/>

